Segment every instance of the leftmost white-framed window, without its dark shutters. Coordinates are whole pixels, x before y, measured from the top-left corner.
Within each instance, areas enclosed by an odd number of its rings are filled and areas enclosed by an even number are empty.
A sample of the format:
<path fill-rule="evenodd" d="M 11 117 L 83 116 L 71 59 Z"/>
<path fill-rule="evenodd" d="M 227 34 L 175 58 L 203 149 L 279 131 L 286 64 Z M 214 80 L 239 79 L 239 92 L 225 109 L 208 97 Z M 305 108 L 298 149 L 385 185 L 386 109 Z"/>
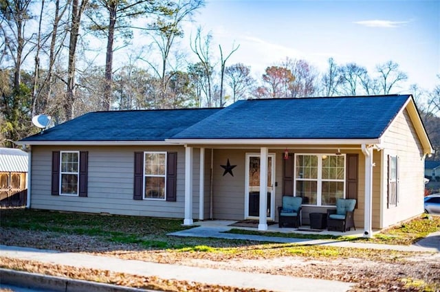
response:
<path fill-rule="evenodd" d="M 78 195 L 79 152 L 61 151 L 60 194 Z"/>

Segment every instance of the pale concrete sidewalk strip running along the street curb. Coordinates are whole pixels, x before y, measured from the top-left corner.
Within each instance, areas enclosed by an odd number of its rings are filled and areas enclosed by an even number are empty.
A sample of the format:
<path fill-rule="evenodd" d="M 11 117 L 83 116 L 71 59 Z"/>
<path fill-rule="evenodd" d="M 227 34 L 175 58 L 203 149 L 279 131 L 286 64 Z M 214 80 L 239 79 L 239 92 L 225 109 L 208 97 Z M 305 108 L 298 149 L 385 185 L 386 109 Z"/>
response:
<path fill-rule="evenodd" d="M 0 256 L 21 260 L 36 260 L 57 265 L 69 265 L 90 269 L 102 269 L 139 276 L 157 276 L 162 279 L 186 280 L 222 286 L 267 289 L 270 291 L 347 291 L 353 284 L 311 278 L 247 273 L 224 269 L 209 269 L 181 265 L 122 260 L 106 256 L 91 256 L 79 253 L 65 253 L 45 249 L 11 247 L 0 245 Z"/>

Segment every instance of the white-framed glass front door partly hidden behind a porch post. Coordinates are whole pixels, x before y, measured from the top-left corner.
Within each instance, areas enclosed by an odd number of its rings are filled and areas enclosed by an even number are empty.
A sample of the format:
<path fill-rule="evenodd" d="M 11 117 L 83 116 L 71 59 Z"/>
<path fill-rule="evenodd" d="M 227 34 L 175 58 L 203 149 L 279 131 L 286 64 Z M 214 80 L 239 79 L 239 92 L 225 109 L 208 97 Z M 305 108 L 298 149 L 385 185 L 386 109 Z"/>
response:
<path fill-rule="evenodd" d="M 267 155 L 267 219 L 274 220 L 275 155 Z M 245 218 L 260 216 L 260 154 L 246 154 Z"/>

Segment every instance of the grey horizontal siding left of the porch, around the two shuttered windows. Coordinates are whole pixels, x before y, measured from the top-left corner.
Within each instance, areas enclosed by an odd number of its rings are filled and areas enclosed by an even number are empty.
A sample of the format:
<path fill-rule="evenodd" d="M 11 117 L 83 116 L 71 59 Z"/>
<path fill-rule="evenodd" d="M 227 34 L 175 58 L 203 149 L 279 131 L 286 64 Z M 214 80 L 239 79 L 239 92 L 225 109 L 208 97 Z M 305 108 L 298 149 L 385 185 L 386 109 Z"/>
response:
<path fill-rule="evenodd" d="M 88 196 L 52 196 L 52 151 L 89 151 Z M 177 151 L 177 201 L 133 200 L 135 151 Z M 198 216 L 199 154 L 194 155 L 193 213 Z M 32 146 L 31 207 L 45 210 L 184 218 L 185 149 L 181 146 L 135 147 Z M 197 186 L 197 187 L 195 187 Z"/>

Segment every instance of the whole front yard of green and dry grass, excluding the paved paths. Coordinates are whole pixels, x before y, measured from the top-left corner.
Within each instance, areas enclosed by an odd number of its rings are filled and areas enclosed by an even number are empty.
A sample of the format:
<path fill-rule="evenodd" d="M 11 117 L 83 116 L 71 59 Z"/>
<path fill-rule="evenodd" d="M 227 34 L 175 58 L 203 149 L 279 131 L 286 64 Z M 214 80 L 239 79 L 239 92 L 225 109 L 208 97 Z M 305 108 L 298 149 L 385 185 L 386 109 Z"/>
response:
<path fill-rule="evenodd" d="M 353 291 L 440 289 L 438 253 L 166 235 L 188 228 L 181 226 L 181 223 L 181 219 L 169 218 L 0 209 L 0 244 L 252 273 L 341 280 L 356 283 Z M 438 230 L 440 216 L 421 216 L 384 230 L 371 239 L 249 232 L 241 229 L 232 232 L 408 245 Z M 164 291 L 243 291 L 234 287 L 212 287 L 203 283 L 142 278 L 108 271 L 85 271 L 12 258 L 0 258 L 0 267 Z"/>

